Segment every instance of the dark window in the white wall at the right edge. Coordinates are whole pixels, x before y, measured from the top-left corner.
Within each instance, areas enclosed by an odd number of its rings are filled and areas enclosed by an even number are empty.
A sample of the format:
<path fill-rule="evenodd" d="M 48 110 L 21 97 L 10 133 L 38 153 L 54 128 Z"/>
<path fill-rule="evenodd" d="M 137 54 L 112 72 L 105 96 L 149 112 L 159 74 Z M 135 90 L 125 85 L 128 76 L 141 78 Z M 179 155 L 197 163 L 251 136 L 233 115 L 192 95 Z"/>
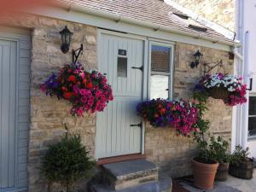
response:
<path fill-rule="evenodd" d="M 248 134 L 249 137 L 256 137 L 256 96 L 249 98 Z"/>

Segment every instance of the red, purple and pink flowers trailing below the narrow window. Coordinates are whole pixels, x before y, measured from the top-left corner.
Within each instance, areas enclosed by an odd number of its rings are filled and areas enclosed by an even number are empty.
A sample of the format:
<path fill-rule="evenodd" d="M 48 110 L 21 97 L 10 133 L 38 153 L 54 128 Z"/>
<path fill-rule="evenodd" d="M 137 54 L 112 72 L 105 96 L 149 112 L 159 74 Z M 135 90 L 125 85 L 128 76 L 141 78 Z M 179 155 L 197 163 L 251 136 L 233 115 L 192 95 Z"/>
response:
<path fill-rule="evenodd" d="M 198 109 L 194 102 L 166 101 L 160 98 L 138 103 L 137 114 L 154 127 L 174 128 L 184 136 L 195 131 L 194 125 L 198 119 Z"/>

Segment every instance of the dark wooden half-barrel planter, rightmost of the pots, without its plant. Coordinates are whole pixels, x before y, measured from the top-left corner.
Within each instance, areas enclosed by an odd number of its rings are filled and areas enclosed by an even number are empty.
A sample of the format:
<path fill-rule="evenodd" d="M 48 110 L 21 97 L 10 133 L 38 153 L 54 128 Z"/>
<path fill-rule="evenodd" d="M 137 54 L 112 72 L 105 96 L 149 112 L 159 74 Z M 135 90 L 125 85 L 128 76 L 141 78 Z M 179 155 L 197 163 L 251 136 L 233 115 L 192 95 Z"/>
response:
<path fill-rule="evenodd" d="M 253 159 L 247 159 L 239 165 L 230 164 L 230 175 L 242 179 L 251 179 L 253 178 Z"/>

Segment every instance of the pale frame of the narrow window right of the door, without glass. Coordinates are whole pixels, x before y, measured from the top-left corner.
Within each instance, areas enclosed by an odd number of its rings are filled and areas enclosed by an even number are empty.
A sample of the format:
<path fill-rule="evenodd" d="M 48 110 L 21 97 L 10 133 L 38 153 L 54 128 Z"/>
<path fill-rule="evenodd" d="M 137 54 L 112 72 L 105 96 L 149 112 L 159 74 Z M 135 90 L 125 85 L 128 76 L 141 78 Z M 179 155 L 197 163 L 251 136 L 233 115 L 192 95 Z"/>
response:
<path fill-rule="evenodd" d="M 165 73 L 165 72 L 152 72 L 151 71 L 151 47 L 152 45 L 156 46 L 163 46 L 170 48 L 170 72 Z M 168 100 L 172 100 L 173 98 L 173 71 L 174 71 L 174 43 L 162 43 L 162 42 L 157 42 L 157 41 L 149 41 L 148 44 L 148 100 L 150 99 L 150 87 L 151 87 L 151 81 L 150 81 L 150 76 L 151 74 L 154 75 L 166 75 L 169 76 L 169 84 L 168 84 Z"/>

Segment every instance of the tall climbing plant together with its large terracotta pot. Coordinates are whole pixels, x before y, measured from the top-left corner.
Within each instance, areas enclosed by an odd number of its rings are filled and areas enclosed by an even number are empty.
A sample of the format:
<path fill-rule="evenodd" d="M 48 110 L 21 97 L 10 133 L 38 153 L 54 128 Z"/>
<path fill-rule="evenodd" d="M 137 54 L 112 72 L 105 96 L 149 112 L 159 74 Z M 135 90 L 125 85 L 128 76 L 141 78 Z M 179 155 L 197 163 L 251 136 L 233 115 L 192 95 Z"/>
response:
<path fill-rule="evenodd" d="M 195 131 L 194 140 L 197 143 L 198 156 L 192 160 L 192 169 L 194 175 L 194 185 L 200 189 L 213 189 L 214 177 L 218 169 L 218 161 L 212 160 L 210 156 L 210 148 L 207 143 L 207 130 L 210 122 L 203 119 L 203 114 L 207 110 L 207 96 L 194 94 L 194 98 L 198 100 L 197 108 L 199 109 L 199 119 L 194 125 L 198 131 Z"/>

